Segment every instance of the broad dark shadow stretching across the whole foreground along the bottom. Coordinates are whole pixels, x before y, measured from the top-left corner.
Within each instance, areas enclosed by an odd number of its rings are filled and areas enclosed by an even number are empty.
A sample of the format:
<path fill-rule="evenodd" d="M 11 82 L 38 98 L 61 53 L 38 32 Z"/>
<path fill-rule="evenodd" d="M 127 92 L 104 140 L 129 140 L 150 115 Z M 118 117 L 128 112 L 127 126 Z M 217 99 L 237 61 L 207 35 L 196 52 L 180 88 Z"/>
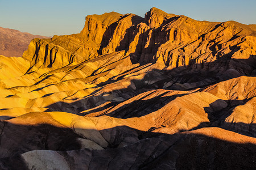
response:
<path fill-rule="evenodd" d="M 57 155 L 63 156 L 71 169 L 256 168 L 255 143 L 245 143 L 247 137 L 241 138 L 240 142 L 231 142 L 233 133 L 228 133 L 228 136 L 225 134 L 225 141 L 196 131 L 170 135 L 117 126 L 100 131 L 109 143 L 108 148 L 88 150 L 80 148 L 76 141 L 79 135 L 68 128 L 49 124 L 21 126 L 8 122 L 3 130 L 1 169 L 27 169 L 27 164 L 19 154 L 32 150 L 62 150 L 57 151 Z M 5 141 L 7 137 L 10 139 Z M 6 152 L 8 154 L 3 155 Z M 36 162 L 40 163 L 46 162 L 44 159 Z"/>

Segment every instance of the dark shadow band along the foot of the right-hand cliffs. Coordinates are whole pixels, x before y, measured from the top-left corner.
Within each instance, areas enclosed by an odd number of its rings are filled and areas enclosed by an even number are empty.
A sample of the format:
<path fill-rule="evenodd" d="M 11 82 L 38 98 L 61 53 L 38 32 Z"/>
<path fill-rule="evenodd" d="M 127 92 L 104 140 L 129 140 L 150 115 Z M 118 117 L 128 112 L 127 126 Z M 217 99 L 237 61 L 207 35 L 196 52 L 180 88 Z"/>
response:
<path fill-rule="evenodd" d="M 142 69 L 144 68 L 145 67 Z M 140 70 L 134 71 L 133 73 L 138 71 Z M 123 74 L 123 76 L 115 80 L 114 78 L 117 76 L 113 76 L 106 82 L 97 84 L 97 86 L 115 83 L 121 80 L 125 75 L 126 74 Z M 196 59 L 191 59 L 188 66 L 179 66 L 171 70 L 155 69 L 147 72 L 142 80 L 132 81 L 138 82 L 138 84 L 141 84 L 138 86 L 143 87 L 166 88 L 168 90 L 193 90 L 243 75 L 256 76 L 256 56 L 251 55 L 248 59 L 230 59 L 230 56 L 226 56 L 207 63 L 197 63 Z M 153 84 L 144 83 L 145 81 L 150 81 L 150 79 L 155 78 L 155 76 L 163 76 L 163 78 Z M 171 84 L 165 86 L 168 82 L 171 82 Z M 197 84 L 191 87 L 180 86 L 180 84 L 185 83 Z"/>

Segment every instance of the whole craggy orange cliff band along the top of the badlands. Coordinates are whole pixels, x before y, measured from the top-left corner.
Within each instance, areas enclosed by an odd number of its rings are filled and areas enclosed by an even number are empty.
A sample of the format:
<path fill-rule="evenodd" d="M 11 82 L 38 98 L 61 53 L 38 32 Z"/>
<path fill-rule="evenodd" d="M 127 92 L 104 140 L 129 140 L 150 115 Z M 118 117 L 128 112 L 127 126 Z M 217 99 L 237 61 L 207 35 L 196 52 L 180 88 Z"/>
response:
<path fill-rule="evenodd" d="M 217 59 L 255 55 L 255 36 L 252 25 L 200 22 L 151 8 L 144 19 L 116 12 L 86 16 L 81 33 L 33 40 L 23 57 L 38 67 L 57 68 L 125 50 L 133 62 L 158 62 L 170 69 L 201 63 L 211 69 L 209 62 Z M 56 58 L 61 58 L 61 65 L 54 63 Z"/>

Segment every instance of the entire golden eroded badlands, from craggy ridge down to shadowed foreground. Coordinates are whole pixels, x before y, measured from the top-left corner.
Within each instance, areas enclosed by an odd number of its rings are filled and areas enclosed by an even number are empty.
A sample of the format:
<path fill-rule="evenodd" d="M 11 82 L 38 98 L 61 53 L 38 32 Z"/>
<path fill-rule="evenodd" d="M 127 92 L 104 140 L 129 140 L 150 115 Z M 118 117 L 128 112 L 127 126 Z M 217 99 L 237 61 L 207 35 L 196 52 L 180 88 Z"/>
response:
<path fill-rule="evenodd" d="M 1 168 L 256 168 L 255 36 L 151 8 L 1 56 Z"/>

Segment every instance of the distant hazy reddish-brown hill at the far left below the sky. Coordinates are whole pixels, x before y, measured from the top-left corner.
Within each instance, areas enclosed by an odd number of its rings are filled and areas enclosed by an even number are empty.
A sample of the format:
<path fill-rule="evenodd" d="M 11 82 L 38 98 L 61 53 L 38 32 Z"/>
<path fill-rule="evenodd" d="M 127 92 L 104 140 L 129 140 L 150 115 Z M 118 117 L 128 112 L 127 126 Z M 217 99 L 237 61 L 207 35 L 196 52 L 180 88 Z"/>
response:
<path fill-rule="evenodd" d="M 22 57 L 30 41 L 35 38 L 48 39 L 49 37 L 0 27 L 0 55 Z"/>

